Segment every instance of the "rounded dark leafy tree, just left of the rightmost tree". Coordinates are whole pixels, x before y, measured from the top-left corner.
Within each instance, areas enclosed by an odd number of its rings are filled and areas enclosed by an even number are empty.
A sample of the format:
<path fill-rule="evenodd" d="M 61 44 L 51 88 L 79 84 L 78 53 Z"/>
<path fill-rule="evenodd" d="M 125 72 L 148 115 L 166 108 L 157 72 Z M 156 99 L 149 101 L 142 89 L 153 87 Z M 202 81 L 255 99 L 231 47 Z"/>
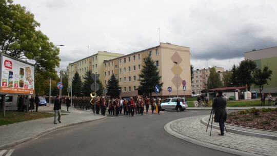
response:
<path fill-rule="evenodd" d="M 252 60 L 244 60 L 240 62 L 240 66 L 236 70 L 236 77 L 239 85 L 246 86 L 250 91 L 251 85 L 254 83 L 253 71 L 256 68 L 256 63 Z"/>

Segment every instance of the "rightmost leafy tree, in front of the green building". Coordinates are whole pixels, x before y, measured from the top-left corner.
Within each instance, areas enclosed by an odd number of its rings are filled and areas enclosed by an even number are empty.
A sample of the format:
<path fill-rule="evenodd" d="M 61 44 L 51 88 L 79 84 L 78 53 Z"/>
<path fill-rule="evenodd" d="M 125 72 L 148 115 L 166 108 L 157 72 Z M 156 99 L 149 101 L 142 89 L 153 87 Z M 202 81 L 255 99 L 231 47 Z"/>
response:
<path fill-rule="evenodd" d="M 271 80 L 270 76 L 272 74 L 272 70 L 268 68 L 268 66 L 264 66 L 263 71 L 261 69 L 256 68 L 253 72 L 254 77 L 254 85 L 259 86 L 260 94 L 264 89 L 264 85 L 267 84 L 267 80 Z"/>

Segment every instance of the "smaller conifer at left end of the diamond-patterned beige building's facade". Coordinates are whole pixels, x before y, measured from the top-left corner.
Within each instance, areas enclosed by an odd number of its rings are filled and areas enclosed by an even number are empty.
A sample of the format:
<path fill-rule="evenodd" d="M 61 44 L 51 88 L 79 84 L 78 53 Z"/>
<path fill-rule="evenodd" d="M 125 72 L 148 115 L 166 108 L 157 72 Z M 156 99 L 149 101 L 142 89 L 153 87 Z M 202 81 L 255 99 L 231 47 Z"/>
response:
<path fill-rule="evenodd" d="M 113 73 L 110 79 L 108 80 L 107 90 L 108 90 L 107 95 L 110 95 L 111 98 L 116 98 L 116 97 L 118 98 L 121 93 L 119 82 L 115 78 Z"/>

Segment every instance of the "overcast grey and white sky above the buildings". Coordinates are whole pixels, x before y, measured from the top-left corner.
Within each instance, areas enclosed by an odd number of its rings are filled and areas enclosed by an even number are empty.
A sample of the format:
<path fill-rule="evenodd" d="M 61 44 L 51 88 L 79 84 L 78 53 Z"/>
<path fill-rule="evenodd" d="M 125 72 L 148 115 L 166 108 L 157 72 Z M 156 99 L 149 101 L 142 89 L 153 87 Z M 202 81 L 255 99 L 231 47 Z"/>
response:
<path fill-rule="evenodd" d="M 229 70 L 244 52 L 277 46 L 275 0 L 14 0 L 60 47 L 60 67 L 97 51 L 129 54 L 170 42 L 190 48 L 194 69 Z M 60 70 L 60 69 L 57 69 Z"/>

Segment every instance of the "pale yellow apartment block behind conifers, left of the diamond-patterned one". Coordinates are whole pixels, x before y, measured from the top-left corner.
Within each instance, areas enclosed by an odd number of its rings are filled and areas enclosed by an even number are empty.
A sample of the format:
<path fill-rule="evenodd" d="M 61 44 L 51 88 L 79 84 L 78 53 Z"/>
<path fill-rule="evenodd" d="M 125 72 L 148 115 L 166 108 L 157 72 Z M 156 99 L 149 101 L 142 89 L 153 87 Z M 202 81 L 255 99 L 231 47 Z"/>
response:
<path fill-rule="evenodd" d="M 88 56 L 84 59 L 78 60 L 73 63 L 69 63 L 68 69 L 68 86 L 71 87 L 71 81 L 74 74 L 78 72 L 81 76 L 82 82 L 84 82 L 84 76 L 86 71 L 91 70 L 92 73 L 100 74 L 100 80 L 104 80 L 104 66 L 103 62 L 105 60 L 114 59 L 116 57 L 123 56 L 121 53 L 111 53 L 107 51 L 98 51 L 96 54 Z M 102 81 L 103 83 L 103 81 Z"/>

